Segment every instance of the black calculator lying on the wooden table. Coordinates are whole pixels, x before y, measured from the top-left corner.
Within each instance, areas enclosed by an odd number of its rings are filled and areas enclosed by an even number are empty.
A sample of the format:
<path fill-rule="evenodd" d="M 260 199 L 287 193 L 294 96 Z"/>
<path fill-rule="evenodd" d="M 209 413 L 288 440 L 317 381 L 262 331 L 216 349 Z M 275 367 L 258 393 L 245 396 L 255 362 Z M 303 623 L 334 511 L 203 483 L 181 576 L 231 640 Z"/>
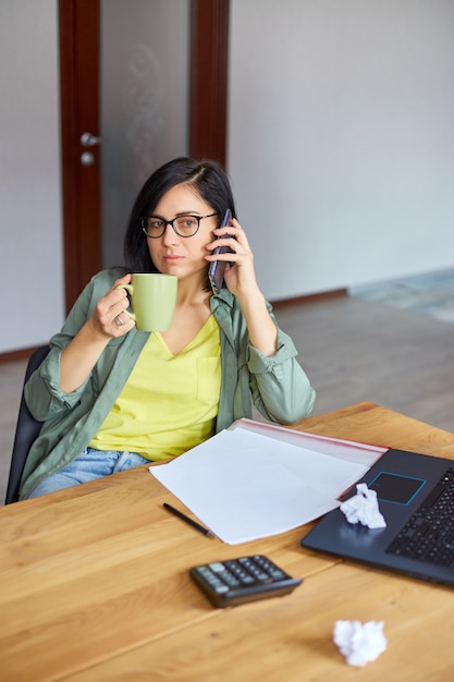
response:
<path fill-rule="evenodd" d="M 216 607 L 281 597 L 302 584 L 263 555 L 213 561 L 191 569 L 191 576 Z"/>

